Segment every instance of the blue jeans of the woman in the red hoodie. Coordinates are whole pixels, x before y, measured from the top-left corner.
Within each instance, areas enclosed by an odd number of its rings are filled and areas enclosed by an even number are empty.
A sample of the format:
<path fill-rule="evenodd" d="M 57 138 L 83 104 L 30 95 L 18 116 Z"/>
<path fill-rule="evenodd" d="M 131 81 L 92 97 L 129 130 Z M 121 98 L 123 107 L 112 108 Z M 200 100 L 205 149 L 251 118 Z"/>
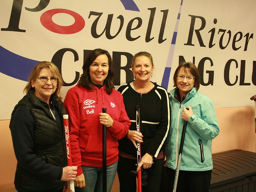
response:
<path fill-rule="evenodd" d="M 117 163 L 107 166 L 107 192 L 111 191 L 116 177 Z M 102 192 L 102 167 L 81 166 L 84 173 L 85 187 L 75 187 L 76 192 Z"/>

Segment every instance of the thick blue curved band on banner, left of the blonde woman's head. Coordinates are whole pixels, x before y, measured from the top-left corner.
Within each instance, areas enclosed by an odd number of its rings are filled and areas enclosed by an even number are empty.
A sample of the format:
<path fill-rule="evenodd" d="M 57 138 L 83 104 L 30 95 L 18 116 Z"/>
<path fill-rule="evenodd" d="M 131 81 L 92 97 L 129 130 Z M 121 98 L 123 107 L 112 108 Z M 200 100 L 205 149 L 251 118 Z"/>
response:
<path fill-rule="evenodd" d="M 39 62 L 17 55 L 2 46 L 0 46 L 0 60 L 1 73 L 22 81 L 28 81 L 32 69 Z"/>

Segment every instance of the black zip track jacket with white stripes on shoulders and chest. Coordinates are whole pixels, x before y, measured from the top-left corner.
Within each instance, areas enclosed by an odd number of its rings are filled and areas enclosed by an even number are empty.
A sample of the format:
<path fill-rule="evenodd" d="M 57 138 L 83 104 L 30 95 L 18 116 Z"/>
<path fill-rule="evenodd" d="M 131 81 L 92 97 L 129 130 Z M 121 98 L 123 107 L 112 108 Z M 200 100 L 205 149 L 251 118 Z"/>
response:
<path fill-rule="evenodd" d="M 153 82 L 152 82 L 153 83 Z M 140 106 L 140 132 L 143 135 L 141 156 L 145 153 L 157 157 L 163 150 L 164 141 L 170 127 L 170 102 L 167 91 L 155 84 L 148 93 L 141 94 L 134 90 L 133 81 L 120 85 L 117 91 L 124 97 L 125 110 L 131 121 L 129 130 L 136 129 L 136 106 Z M 118 140 L 118 149 L 126 154 L 137 156 L 137 149 L 131 140 L 125 136 Z"/>

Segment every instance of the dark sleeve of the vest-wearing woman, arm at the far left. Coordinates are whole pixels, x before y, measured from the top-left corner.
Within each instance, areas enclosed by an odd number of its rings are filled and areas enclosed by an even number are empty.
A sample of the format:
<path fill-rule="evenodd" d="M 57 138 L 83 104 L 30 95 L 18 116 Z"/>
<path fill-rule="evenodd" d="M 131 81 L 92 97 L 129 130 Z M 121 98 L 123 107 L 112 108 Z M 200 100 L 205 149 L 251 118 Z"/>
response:
<path fill-rule="evenodd" d="M 35 121 L 26 106 L 19 106 L 12 115 L 10 130 L 18 164 L 39 178 L 57 180 L 62 167 L 46 163 L 34 154 Z"/>

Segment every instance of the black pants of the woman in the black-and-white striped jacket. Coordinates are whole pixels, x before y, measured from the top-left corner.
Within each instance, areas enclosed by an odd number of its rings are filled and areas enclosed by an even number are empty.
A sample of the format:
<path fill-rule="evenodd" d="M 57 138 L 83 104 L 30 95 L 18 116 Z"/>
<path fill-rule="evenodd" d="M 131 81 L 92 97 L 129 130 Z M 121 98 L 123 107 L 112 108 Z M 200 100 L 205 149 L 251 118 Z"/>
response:
<path fill-rule="evenodd" d="M 142 186 L 143 192 L 159 192 L 161 175 L 163 171 L 163 159 L 154 160 L 154 168 L 145 169 L 148 173 L 148 184 Z M 118 159 L 117 174 L 120 184 L 120 192 L 136 192 L 136 176 L 131 174 L 131 171 L 136 171 L 136 159 L 128 159 L 120 157 Z"/>

